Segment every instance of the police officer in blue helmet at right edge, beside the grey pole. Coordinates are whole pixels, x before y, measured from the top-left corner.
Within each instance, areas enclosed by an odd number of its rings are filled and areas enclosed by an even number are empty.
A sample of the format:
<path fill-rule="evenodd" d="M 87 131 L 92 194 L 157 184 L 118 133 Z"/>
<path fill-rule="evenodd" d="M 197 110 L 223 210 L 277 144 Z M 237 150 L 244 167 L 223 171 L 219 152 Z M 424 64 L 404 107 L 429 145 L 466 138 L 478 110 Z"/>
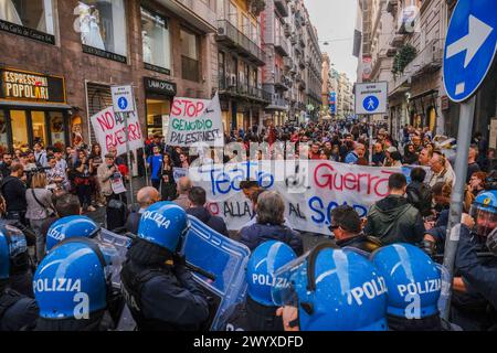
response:
<path fill-rule="evenodd" d="M 461 226 L 451 314 L 465 330 L 489 330 L 497 323 L 497 191 L 480 193 L 472 215 L 476 232 Z"/>

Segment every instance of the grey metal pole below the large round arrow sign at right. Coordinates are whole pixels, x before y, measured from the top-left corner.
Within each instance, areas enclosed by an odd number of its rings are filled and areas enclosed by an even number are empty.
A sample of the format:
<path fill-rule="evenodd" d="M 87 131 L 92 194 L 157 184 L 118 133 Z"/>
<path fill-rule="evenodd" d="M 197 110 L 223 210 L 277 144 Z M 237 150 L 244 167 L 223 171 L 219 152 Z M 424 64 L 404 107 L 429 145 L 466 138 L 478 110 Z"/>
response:
<path fill-rule="evenodd" d="M 455 161 L 455 186 L 452 191 L 451 211 L 448 213 L 447 233 L 445 237 L 444 267 L 450 274 L 451 290 L 445 298 L 444 312 L 442 318 L 448 321 L 451 312 L 452 282 L 454 278 L 454 261 L 459 244 L 461 227 L 456 227 L 461 223 L 463 215 L 464 188 L 466 186 L 467 158 L 469 154 L 470 132 L 473 129 L 473 119 L 475 115 L 475 100 L 470 98 L 467 103 L 461 105 L 459 130 L 457 133 L 457 154 Z"/>

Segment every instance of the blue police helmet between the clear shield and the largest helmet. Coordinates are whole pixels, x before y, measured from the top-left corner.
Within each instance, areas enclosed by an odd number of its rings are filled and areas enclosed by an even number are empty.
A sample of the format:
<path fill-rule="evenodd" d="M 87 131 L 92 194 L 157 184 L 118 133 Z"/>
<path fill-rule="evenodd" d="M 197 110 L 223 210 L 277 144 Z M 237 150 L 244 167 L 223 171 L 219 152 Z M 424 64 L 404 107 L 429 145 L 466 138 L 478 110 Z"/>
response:
<path fill-rule="evenodd" d="M 261 244 L 252 253 L 246 267 L 248 296 L 260 304 L 275 306 L 271 295 L 274 272 L 296 257 L 294 250 L 282 242 L 269 240 Z"/>

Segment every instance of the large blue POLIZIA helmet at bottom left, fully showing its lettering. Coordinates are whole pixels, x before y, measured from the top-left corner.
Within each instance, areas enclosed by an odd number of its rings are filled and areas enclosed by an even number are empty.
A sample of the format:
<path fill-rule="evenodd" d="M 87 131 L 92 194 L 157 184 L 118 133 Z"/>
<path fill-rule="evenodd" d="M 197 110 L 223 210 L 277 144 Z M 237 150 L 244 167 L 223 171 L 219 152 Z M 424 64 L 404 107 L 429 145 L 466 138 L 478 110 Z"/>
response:
<path fill-rule="evenodd" d="M 55 246 L 39 265 L 33 291 L 44 319 L 88 319 L 107 307 L 108 258 L 93 239 L 74 237 Z"/>

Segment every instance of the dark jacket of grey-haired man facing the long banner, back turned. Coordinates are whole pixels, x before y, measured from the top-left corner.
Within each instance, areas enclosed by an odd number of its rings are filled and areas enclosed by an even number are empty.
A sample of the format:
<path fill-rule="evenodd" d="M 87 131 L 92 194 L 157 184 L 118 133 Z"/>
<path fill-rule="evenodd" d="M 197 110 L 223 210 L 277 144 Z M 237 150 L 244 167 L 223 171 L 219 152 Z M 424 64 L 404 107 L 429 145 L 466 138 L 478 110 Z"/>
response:
<path fill-rule="evenodd" d="M 283 242 L 289 245 L 297 256 L 304 254 L 304 246 L 300 234 L 283 225 L 253 224 L 240 231 L 242 244 L 254 250 L 262 243 L 267 240 Z"/>

